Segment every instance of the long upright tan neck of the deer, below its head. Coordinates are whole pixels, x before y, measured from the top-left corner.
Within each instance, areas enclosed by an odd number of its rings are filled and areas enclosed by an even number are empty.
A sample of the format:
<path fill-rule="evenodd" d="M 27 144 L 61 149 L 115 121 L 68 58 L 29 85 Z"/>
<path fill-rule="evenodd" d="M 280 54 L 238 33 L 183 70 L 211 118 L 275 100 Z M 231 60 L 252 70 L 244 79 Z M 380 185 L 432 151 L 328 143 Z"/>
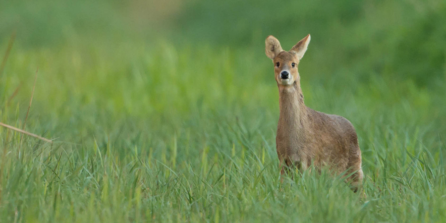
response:
<path fill-rule="evenodd" d="M 298 81 L 290 86 L 279 86 L 279 107 L 279 130 L 289 132 L 305 128 L 307 111 Z"/>

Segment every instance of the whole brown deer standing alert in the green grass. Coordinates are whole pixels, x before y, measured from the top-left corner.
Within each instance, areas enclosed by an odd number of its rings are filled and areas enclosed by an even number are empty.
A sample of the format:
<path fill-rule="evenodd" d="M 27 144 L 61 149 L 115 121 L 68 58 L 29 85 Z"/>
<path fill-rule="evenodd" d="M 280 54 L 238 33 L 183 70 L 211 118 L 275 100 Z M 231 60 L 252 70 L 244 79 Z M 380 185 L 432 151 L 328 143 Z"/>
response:
<path fill-rule="evenodd" d="M 320 169 L 328 166 L 344 173 L 353 191 L 362 184 L 361 151 L 353 125 L 346 118 L 314 111 L 304 104 L 298 65 L 304 56 L 310 34 L 290 51 L 283 51 L 279 40 L 268 36 L 265 53 L 273 60 L 279 87 L 279 123 L 276 148 L 283 174 L 289 167 Z"/>

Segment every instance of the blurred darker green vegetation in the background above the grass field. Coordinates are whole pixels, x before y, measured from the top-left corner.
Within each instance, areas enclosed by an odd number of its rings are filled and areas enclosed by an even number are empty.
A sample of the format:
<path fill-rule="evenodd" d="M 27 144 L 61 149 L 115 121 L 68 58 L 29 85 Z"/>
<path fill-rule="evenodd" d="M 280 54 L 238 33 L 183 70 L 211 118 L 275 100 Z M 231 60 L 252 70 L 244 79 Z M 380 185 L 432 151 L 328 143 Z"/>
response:
<path fill-rule="evenodd" d="M 274 35 L 289 49 L 310 33 L 308 66 L 368 81 L 381 75 L 436 86 L 446 78 L 444 0 L 1 1 L 0 40 L 24 47 L 163 38 L 263 55 Z M 259 61 L 260 62 L 260 61 Z"/>

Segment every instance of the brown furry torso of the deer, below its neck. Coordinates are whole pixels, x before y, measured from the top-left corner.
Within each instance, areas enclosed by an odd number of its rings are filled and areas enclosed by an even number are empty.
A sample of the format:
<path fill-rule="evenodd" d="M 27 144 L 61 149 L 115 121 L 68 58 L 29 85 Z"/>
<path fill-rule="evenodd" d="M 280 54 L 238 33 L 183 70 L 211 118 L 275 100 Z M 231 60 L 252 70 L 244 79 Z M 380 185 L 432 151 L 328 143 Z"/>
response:
<path fill-rule="evenodd" d="M 344 171 L 352 164 L 360 162 L 361 154 L 358 138 L 353 125 L 346 118 L 307 109 L 304 131 L 292 136 L 293 148 L 284 148 L 281 142 L 284 136 L 277 137 L 279 156 L 291 159 L 300 166 L 332 166 Z"/>

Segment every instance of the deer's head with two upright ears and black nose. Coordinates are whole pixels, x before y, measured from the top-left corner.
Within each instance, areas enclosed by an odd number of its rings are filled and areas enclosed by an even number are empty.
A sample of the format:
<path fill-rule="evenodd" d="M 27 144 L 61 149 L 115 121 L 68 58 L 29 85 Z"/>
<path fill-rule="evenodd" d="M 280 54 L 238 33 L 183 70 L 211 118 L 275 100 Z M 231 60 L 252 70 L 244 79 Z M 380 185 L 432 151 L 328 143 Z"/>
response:
<path fill-rule="evenodd" d="M 274 74 L 279 85 L 293 85 L 300 81 L 297 65 L 307 51 L 310 43 L 310 34 L 294 45 L 288 52 L 280 47 L 279 40 L 268 36 L 265 40 L 265 53 L 273 60 Z"/>

